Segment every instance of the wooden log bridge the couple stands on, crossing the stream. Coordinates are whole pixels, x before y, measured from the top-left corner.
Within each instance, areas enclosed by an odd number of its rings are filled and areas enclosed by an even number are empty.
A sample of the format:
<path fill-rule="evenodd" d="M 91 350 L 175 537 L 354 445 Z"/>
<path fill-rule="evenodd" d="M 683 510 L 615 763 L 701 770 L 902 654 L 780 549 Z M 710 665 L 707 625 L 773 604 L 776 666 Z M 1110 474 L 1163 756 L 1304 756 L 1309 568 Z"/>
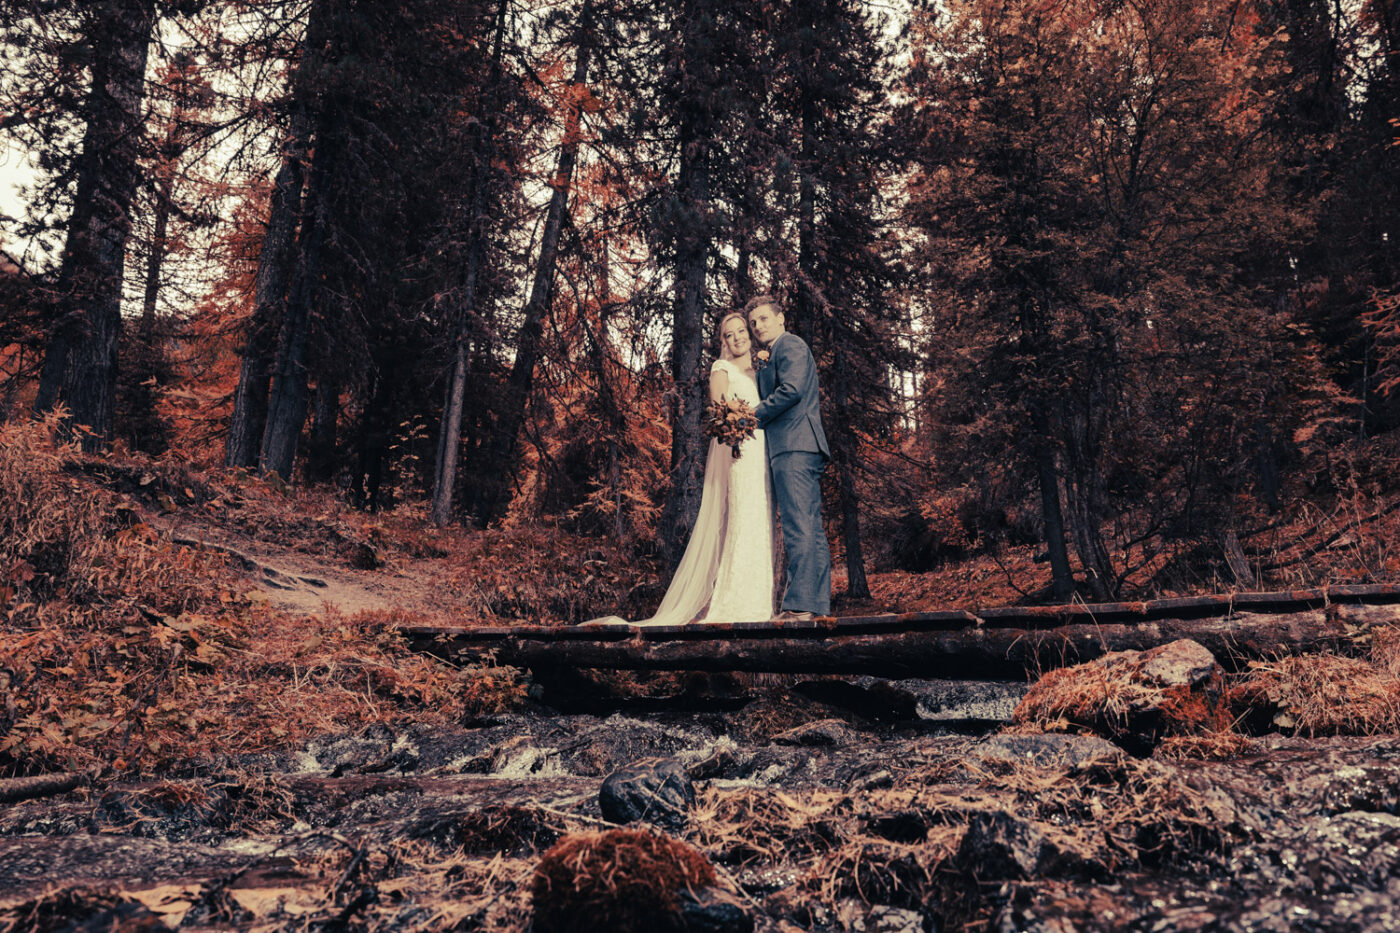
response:
<path fill-rule="evenodd" d="M 1343 650 L 1400 625 L 1400 584 L 1333 586 L 1144 602 L 1001 607 L 683 626 L 406 626 L 410 644 L 452 660 L 559 668 L 874 674 L 1019 679 L 1109 651 L 1194 639 L 1226 667 Z"/>

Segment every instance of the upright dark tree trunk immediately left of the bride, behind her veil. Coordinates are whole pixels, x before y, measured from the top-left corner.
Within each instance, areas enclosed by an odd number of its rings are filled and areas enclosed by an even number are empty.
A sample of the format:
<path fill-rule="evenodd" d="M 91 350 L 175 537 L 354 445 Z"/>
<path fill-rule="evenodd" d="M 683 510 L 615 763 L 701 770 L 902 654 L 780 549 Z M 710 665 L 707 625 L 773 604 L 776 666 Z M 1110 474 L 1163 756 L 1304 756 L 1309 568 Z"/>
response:
<path fill-rule="evenodd" d="M 706 387 L 699 380 L 704 350 L 706 272 L 710 256 L 710 153 L 707 120 L 693 108 L 680 120 L 678 189 L 683 220 L 676 230 L 676 300 L 671 332 L 671 375 L 675 402 L 671 417 L 671 492 L 661 510 L 658 537 L 666 562 L 685 553 L 700 510 L 703 488 Z"/>

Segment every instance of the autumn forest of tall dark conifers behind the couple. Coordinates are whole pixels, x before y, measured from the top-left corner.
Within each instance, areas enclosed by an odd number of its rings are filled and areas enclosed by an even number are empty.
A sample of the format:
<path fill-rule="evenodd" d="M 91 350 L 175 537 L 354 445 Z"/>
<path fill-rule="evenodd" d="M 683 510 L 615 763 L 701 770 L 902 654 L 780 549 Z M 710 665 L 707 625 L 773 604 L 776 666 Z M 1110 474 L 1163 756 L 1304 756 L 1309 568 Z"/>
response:
<path fill-rule="evenodd" d="M 0 417 L 90 451 L 665 565 L 773 291 L 857 600 L 1008 546 L 1043 597 L 1257 586 L 1239 541 L 1393 488 L 1389 4 L 4 17 Z"/>

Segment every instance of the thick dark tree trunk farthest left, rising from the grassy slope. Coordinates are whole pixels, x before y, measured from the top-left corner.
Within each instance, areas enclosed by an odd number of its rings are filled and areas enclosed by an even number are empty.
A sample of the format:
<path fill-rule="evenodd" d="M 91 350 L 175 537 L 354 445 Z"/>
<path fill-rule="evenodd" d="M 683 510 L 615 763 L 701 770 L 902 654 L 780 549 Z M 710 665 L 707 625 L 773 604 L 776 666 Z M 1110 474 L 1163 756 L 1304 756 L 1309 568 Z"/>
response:
<path fill-rule="evenodd" d="M 122 268 L 140 154 L 146 59 L 155 0 L 106 3 L 94 15 L 77 192 L 59 272 L 60 317 L 49 338 L 35 409 L 69 406 L 85 450 L 112 436 Z"/>

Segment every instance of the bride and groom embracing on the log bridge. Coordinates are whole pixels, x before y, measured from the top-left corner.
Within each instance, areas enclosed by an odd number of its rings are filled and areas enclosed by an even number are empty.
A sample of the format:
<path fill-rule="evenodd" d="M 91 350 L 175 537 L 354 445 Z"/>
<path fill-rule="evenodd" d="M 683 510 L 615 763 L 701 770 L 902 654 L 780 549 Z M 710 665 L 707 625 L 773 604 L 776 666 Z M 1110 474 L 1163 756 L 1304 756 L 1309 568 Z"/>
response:
<path fill-rule="evenodd" d="M 746 402 L 759 427 L 736 454 L 710 441 L 690 542 L 657 614 L 637 625 L 829 615 L 832 552 L 822 525 L 822 471 L 832 454 L 812 350 L 787 332 L 783 310 L 770 296 L 724 315 L 718 343 L 710 399 Z M 787 588 L 777 616 L 774 504 L 787 549 Z"/>

